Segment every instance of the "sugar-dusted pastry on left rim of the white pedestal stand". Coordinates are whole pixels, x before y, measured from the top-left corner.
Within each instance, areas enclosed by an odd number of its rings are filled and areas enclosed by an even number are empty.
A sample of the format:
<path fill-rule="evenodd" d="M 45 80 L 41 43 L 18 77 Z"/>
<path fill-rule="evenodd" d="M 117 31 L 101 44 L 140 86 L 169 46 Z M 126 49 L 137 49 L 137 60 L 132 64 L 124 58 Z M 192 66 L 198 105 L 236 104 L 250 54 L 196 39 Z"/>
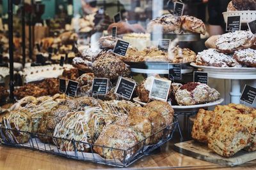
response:
<path fill-rule="evenodd" d="M 196 55 L 196 65 L 213 67 L 241 67 L 231 56 L 210 48 Z"/>

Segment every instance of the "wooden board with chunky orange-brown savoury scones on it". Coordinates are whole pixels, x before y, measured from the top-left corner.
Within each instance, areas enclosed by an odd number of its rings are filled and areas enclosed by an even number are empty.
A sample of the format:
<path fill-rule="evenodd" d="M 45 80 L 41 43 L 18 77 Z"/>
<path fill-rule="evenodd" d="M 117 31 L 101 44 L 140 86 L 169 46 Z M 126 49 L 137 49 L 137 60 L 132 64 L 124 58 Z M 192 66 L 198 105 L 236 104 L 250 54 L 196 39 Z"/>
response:
<path fill-rule="evenodd" d="M 256 157 L 255 108 L 243 104 L 199 110 L 192 128 L 193 141 L 175 144 L 178 152 L 225 166 L 244 164 Z"/>

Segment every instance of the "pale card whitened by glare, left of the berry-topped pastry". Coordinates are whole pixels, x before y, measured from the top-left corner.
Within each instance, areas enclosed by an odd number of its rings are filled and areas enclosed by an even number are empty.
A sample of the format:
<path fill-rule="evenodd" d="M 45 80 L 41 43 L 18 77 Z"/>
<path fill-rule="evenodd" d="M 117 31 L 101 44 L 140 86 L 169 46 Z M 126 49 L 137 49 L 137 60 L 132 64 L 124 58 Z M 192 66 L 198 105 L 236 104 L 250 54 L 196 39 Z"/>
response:
<path fill-rule="evenodd" d="M 150 89 L 149 98 L 167 101 L 172 81 L 154 78 Z"/>

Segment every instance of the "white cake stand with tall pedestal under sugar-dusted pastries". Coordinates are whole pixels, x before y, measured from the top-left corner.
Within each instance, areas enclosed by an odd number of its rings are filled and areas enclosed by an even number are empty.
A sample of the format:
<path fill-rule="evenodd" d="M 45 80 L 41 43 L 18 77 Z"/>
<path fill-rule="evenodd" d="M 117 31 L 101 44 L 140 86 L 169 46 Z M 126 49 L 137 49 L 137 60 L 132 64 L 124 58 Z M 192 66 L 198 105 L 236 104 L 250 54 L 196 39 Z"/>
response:
<path fill-rule="evenodd" d="M 190 65 L 207 72 L 210 78 L 231 80 L 230 101 L 235 104 L 240 103 L 240 80 L 256 79 L 256 68 L 252 67 L 211 67 L 197 66 L 195 63 Z"/>

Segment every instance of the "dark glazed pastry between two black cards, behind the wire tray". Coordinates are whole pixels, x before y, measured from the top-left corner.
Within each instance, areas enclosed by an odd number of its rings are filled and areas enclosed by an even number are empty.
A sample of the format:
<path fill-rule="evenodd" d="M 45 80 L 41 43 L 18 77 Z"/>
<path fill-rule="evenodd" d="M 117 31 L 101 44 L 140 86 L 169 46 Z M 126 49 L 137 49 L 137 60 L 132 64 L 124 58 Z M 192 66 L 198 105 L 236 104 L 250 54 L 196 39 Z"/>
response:
<path fill-rule="evenodd" d="M 76 80 L 79 87 L 78 93 L 81 93 L 83 96 L 90 96 L 92 94 L 93 78 L 93 73 L 85 73 L 79 76 Z"/>

